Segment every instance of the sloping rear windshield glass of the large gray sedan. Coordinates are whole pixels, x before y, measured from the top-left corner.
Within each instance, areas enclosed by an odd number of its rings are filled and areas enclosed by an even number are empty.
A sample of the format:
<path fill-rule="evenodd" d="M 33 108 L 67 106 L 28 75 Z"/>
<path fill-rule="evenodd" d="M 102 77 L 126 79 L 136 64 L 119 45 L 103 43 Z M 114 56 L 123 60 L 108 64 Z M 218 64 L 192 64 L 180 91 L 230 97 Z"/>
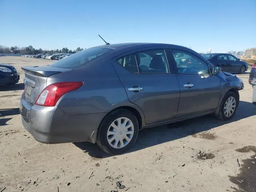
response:
<path fill-rule="evenodd" d="M 78 53 L 72 54 L 58 62 L 51 64 L 53 67 L 61 68 L 76 68 L 89 62 L 90 60 L 96 59 L 107 52 L 113 51 L 114 49 L 105 47 L 92 47 Z"/>

